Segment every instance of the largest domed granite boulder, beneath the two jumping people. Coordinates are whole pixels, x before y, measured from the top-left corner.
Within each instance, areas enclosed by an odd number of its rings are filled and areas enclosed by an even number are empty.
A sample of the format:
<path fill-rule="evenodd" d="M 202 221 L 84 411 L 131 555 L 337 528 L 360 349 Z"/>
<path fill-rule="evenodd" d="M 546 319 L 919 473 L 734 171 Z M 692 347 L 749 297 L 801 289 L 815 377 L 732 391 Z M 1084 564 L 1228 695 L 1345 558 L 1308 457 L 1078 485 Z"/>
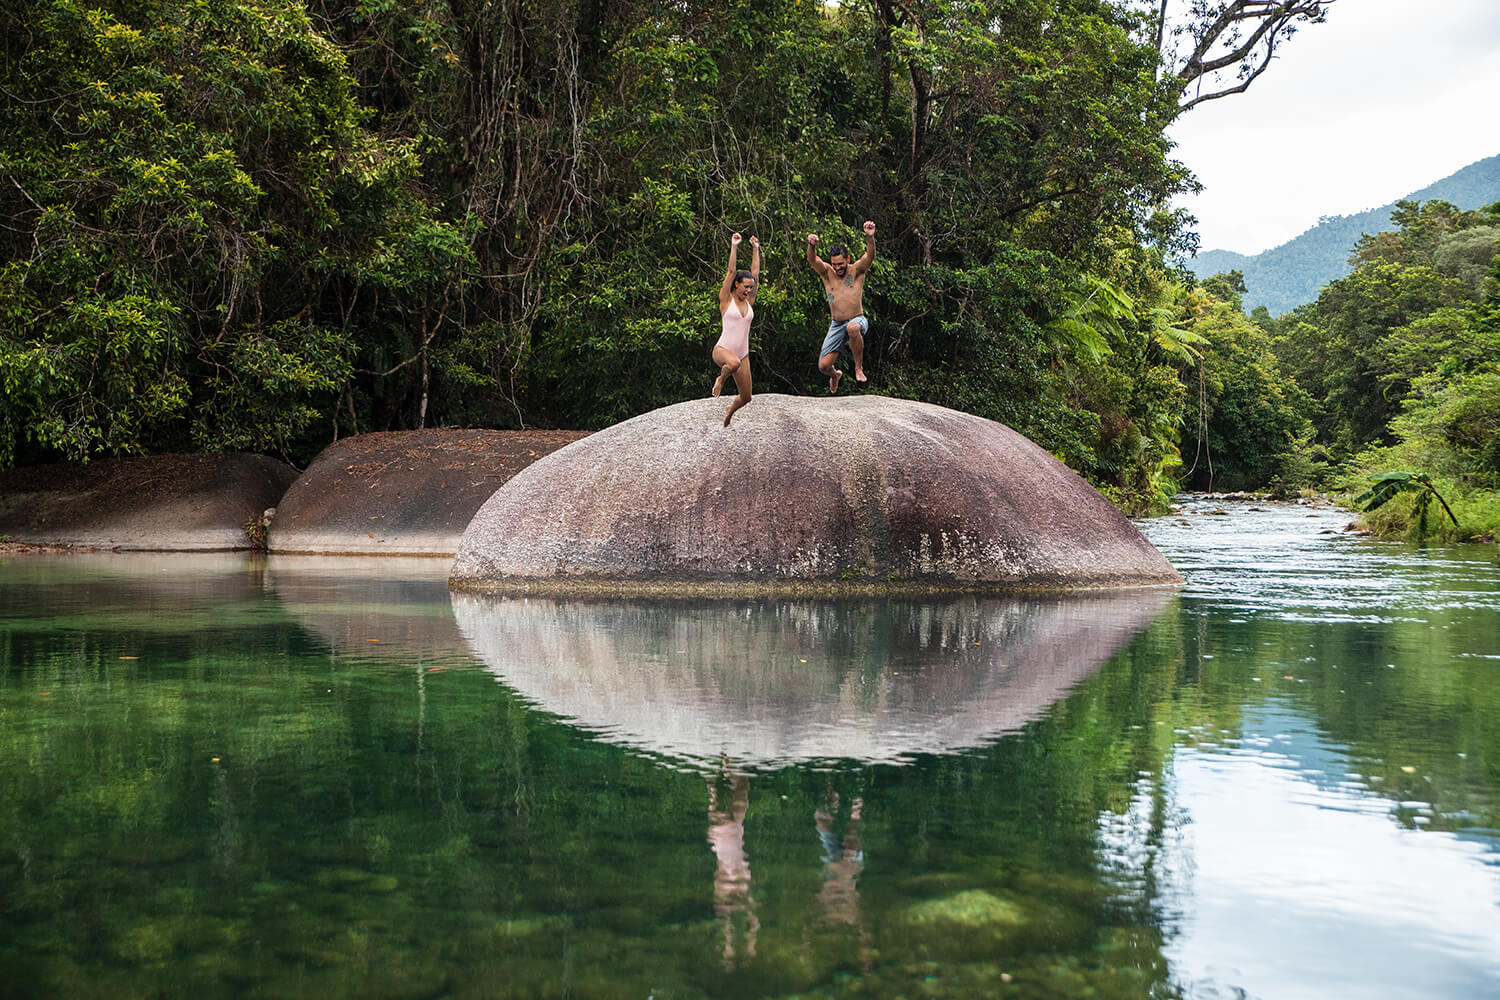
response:
<path fill-rule="evenodd" d="M 1178 583 L 1140 531 L 1004 424 L 880 396 L 699 399 L 519 472 L 450 585 L 489 591 L 1040 591 Z"/>

